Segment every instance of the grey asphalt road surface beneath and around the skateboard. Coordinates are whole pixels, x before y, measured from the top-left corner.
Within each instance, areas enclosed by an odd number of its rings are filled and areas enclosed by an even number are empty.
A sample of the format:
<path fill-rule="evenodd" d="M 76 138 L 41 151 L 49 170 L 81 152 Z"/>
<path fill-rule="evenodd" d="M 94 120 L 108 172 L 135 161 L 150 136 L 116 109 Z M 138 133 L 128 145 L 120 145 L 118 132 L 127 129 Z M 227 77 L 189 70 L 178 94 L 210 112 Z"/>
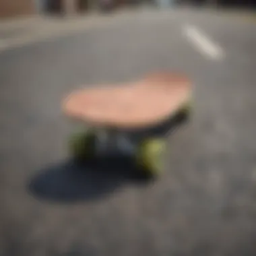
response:
<path fill-rule="evenodd" d="M 0 53 L 1 255 L 255 255 L 255 22 L 195 9 L 109 19 Z M 158 70 L 187 73 L 194 92 L 162 177 L 69 162 L 63 96 Z"/>

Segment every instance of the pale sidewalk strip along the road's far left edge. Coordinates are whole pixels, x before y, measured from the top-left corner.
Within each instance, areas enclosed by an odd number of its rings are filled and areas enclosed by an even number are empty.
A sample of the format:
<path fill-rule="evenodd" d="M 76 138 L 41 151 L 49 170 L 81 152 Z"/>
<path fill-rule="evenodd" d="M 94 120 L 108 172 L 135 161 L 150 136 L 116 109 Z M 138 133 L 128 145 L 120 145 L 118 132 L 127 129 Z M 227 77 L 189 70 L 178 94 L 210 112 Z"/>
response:
<path fill-rule="evenodd" d="M 113 15 L 90 13 L 84 16 L 56 18 L 30 16 L 15 20 L 0 21 L 0 53 L 13 47 L 24 46 L 40 40 L 47 40 L 69 33 L 108 26 L 115 22 Z"/>

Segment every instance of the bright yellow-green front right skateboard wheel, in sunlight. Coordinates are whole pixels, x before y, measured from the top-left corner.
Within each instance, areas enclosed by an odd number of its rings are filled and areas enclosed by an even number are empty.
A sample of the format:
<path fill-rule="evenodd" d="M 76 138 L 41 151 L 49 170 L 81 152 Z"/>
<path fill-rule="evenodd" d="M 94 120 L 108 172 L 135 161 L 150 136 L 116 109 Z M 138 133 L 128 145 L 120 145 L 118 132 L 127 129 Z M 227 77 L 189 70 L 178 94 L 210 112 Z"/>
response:
<path fill-rule="evenodd" d="M 150 177 L 156 177 L 162 170 L 162 155 L 165 149 L 163 139 L 146 139 L 137 150 L 136 164 Z"/>

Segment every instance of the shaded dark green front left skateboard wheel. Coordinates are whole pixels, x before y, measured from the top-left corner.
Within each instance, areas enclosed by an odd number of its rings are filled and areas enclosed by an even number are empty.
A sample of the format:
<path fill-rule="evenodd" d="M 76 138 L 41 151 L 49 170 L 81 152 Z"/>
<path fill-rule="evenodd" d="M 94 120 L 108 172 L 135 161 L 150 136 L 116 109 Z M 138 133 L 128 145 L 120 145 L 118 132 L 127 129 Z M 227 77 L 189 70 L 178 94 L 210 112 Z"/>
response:
<path fill-rule="evenodd" d="M 71 135 L 69 150 L 75 160 L 90 160 L 95 153 L 96 135 L 92 131 L 80 131 Z"/>

